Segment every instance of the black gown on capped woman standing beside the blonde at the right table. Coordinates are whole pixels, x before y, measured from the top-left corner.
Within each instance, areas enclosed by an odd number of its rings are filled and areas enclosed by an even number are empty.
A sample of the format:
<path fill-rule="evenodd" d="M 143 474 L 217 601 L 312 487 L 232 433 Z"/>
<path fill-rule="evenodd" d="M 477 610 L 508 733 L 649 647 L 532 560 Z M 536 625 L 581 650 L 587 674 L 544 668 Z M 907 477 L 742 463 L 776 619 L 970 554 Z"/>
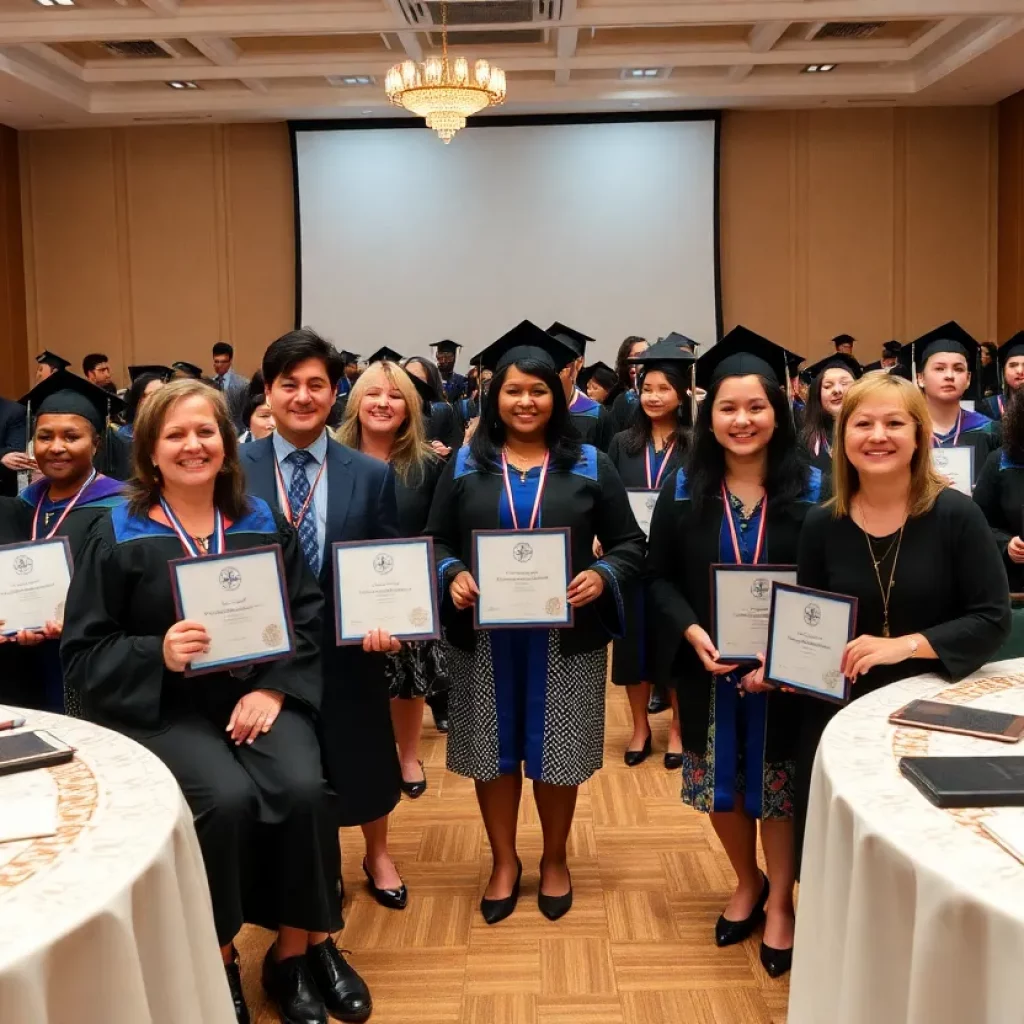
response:
<path fill-rule="evenodd" d="M 820 493 L 821 474 L 810 469 L 803 500 L 779 503 L 768 496 L 764 564 L 796 564 L 804 518 Z M 665 481 L 654 506 L 647 545 L 646 575 L 655 631 L 653 681 L 676 686 L 683 749 L 701 757 L 708 749 L 715 680 L 683 634 L 693 625 L 712 633 L 710 566 L 721 561 L 723 514 L 719 495 L 706 501 L 696 514 L 685 475 L 676 470 Z M 784 696 L 768 695 L 767 723 L 765 761 L 791 759 L 798 721 Z"/>

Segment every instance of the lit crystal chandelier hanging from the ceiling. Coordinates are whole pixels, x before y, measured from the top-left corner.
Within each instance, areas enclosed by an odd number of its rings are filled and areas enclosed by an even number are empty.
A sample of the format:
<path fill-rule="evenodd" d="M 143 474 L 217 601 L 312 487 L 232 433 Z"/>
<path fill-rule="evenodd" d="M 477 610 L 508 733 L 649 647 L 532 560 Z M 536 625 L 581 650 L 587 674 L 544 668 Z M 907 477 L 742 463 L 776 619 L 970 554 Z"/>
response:
<path fill-rule="evenodd" d="M 505 72 L 477 60 L 472 74 L 465 57 L 449 59 L 447 3 L 441 3 L 441 55 L 395 65 L 384 82 L 395 106 L 424 118 L 446 145 L 466 127 L 466 118 L 505 102 Z"/>

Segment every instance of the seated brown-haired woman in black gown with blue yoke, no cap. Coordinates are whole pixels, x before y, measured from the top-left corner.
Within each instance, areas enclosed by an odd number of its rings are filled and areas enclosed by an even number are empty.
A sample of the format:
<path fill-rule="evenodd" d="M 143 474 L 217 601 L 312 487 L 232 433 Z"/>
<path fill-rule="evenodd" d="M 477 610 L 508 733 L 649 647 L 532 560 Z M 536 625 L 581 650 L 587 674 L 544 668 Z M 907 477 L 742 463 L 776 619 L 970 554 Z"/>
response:
<path fill-rule="evenodd" d="M 128 498 L 94 525 L 78 559 L 61 645 L 68 685 L 86 718 L 146 746 L 178 780 L 238 1019 L 249 1017 L 232 940 L 255 921 L 280 926 L 263 984 L 282 1016 L 326 1024 L 326 992 L 347 968 L 329 934 L 341 925 L 340 865 L 314 726 L 319 588 L 295 530 L 246 497 L 227 406 L 201 381 L 147 399 Z M 186 677 L 210 637 L 178 620 L 168 562 L 265 545 L 282 549 L 295 654 Z M 352 1019 L 367 1016 L 369 1007 Z"/>

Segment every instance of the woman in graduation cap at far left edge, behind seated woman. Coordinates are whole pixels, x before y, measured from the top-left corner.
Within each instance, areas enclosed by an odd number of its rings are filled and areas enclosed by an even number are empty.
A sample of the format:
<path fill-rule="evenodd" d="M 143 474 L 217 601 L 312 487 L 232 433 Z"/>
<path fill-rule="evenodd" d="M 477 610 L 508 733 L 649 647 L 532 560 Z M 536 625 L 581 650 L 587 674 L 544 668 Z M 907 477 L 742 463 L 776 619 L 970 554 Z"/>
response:
<path fill-rule="evenodd" d="M 0 499 L 0 544 L 65 537 L 75 560 L 92 523 L 121 502 L 121 484 L 98 473 L 93 460 L 108 407 L 117 413 L 122 402 L 65 370 L 24 400 L 35 414 L 32 454 L 42 477 L 17 498 Z M 44 643 L 60 638 L 62 618 L 54 609 L 41 630 L 0 634 L 0 702 L 78 715 L 74 693 L 63 692 L 57 644 Z"/>

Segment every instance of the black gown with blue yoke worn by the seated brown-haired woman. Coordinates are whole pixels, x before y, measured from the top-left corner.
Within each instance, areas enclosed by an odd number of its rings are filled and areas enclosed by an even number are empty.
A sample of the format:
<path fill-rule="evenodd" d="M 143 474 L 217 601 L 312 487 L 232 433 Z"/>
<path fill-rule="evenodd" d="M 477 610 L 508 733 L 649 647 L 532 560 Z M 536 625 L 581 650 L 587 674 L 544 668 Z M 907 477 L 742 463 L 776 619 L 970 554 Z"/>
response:
<path fill-rule="evenodd" d="M 196 819 L 218 941 L 243 921 L 323 931 L 340 927 L 334 809 L 315 738 L 323 680 L 324 599 L 298 536 L 258 499 L 226 532 L 226 550 L 280 545 L 296 652 L 188 679 L 164 664 L 178 621 L 168 562 L 182 557 L 168 527 L 122 505 L 91 528 L 68 595 L 60 654 L 85 717 L 146 746 L 178 779 Z M 243 694 L 284 693 L 281 716 L 251 748 L 224 726 Z M 254 829 L 256 831 L 254 831 Z"/>

